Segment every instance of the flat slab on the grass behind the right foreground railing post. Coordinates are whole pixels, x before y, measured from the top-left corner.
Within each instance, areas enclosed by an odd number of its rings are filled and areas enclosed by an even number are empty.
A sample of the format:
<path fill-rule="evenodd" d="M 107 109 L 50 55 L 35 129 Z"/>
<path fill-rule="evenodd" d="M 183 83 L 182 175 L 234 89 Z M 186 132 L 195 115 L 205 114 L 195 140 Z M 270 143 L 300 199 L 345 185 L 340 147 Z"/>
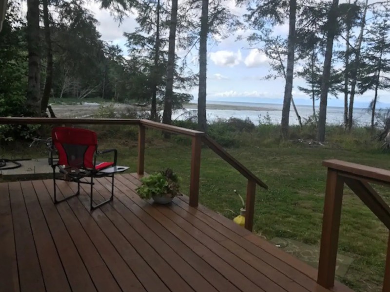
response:
<path fill-rule="evenodd" d="M 318 269 L 318 259 L 320 255 L 319 246 L 308 245 L 296 240 L 281 237 L 274 237 L 271 239 L 271 242 L 276 247 L 281 248 L 285 252 L 296 256 L 300 260 Z M 336 260 L 336 275 L 342 277 L 347 274 L 348 268 L 352 262 L 352 257 L 338 253 Z"/>

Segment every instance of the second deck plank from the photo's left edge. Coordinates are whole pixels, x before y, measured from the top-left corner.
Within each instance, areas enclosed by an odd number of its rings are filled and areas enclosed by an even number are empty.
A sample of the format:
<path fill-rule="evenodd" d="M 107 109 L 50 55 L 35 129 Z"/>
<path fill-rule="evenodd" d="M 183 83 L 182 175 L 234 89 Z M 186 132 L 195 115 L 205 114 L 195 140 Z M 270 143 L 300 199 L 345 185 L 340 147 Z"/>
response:
<path fill-rule="evenodd" d="M 9 183 L 20 291 L 45 291 L 30 220 L 19 182 Z"/>

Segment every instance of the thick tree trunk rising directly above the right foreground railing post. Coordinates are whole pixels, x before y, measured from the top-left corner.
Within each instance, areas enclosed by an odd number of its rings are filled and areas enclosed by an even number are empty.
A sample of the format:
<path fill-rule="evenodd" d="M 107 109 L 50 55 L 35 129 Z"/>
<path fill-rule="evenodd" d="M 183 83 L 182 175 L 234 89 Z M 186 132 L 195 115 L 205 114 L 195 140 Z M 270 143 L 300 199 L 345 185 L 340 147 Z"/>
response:
<path fill-rule="evenodd" d="M 333 0 L 331 10 L 327 20 L 327 37 L 326 50 L 324 59 L 324 69 L 322 72 L 321 95 L 320 95 L 320 112 L 318 116 L 317 139 L 320 142 L 325 141 L 326 127 L 326 109 L 328 103 L 329 80 L 331 77 L 331 62 L 333 53 L 333 41 L 337 31 L 338 0 Z"/>

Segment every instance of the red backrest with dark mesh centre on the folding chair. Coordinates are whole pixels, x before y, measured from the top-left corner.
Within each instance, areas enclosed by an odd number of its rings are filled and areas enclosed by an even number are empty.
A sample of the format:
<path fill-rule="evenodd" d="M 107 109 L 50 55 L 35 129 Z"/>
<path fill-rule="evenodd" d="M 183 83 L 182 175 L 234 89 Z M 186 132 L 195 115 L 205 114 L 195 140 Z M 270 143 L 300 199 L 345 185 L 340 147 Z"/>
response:
<path fill-rule="evenodd" d="M 98 144 L 95 132 L 80 128 L 56 127 L 52 130 L 52 139 L 59 154 L 58 164 L 94 168 L 94 153 Z"/>

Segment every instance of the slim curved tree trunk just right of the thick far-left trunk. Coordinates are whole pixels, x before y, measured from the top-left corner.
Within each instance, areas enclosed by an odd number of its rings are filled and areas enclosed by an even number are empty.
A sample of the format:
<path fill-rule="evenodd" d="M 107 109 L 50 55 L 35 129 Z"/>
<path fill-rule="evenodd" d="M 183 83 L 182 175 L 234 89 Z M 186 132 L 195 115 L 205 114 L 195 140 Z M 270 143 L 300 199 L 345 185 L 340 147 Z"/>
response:
<path fill-rule="evenodd" d="M 46 115 L 47 105 L 49 104 L 50 92 L 53 84 L 53 52 L 52 40 L 50 36 L 50 16 L 48 9 L 48 0 L 42 0 L 43 3 L 43 23 L 45 26 L 45 42 L 47 50 L 46 60 L 46 80 L 45 88 L 43 90 L 42 100 L 40 101 L 40 110 L 42 115 Z"/>

